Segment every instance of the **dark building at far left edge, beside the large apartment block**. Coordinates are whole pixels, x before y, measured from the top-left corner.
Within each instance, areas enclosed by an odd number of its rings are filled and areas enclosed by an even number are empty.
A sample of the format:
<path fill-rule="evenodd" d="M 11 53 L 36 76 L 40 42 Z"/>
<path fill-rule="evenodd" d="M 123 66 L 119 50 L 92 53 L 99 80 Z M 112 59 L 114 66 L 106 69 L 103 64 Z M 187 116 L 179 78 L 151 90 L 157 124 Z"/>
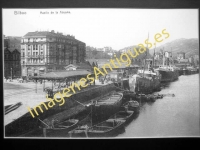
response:
<path fill-rule="evenodd" d="M 21 37 L 4 36 L 4 76 L 20 77 L 20 41 Z"/>

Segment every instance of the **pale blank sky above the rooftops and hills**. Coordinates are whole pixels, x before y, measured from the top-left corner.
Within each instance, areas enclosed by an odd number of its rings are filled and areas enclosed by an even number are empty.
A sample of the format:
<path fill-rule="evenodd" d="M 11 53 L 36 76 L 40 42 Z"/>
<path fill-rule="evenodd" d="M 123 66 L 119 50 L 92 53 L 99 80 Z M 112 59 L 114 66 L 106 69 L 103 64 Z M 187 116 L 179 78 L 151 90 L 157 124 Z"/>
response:
<path fill-rule="evenodd" d="M 157 33 L 163 38 L 157 46 L 180 38 L 199 38 L 198 9 L 3 9 L 2 19 L 5 36 L 54 30 L 73 35 L 86 46 L 114 50 L 144 44 L 148 37 L 155 43 Z M 166 39 L 164 29 L 169 33 Z"/>

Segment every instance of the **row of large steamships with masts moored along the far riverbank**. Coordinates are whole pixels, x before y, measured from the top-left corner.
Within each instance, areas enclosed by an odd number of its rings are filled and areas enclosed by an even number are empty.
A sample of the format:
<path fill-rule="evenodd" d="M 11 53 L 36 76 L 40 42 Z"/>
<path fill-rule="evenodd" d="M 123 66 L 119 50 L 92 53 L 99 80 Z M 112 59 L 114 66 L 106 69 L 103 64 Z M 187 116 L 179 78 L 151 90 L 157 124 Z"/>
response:
<path fill-rule="evenodd" d="M 138 69 L 137 74 L 129 75 L 130 90 L 135 93 L 149 94 L 161 90 L 161 84 L 178 80 L 180 75 L 198 73 L 196 67 L 179 68 L 174 65 L 151 66 L 153 60 L 149 59 L 146 69 Z"/>

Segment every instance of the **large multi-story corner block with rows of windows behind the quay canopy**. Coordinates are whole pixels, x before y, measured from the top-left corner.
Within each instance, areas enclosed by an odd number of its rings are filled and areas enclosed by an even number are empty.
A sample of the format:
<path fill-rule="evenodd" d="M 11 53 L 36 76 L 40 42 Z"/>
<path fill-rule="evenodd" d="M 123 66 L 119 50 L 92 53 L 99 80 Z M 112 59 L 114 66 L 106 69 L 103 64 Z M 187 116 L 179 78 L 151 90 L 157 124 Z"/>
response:
<path fill-rule="evenodd" d="M 85 43 L 54 30 L 28 32 L 21 39 L 22 76 L 38 76 L 85 61 Z"/>

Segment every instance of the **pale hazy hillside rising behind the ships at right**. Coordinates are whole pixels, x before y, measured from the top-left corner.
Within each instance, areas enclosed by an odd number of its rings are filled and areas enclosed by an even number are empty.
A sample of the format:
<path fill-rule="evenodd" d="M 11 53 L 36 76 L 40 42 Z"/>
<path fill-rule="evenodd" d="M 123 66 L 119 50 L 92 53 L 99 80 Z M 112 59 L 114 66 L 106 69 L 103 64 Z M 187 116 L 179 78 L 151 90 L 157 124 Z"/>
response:
<path fill-rule="evenodd" d="M 168 42 L 156 48 L 156 52 L 159 52 L 160 49 L 164 51 L 172 51 L 173 57 L 177 56 L 178 52 L 185 52 L 186 58 L 199 55 L 199 40 L 197 38 L 192 39 L 177 39 L 172 42 Z M 150 49 L 150 54 L 153 54 L 153 49 Z"/>

